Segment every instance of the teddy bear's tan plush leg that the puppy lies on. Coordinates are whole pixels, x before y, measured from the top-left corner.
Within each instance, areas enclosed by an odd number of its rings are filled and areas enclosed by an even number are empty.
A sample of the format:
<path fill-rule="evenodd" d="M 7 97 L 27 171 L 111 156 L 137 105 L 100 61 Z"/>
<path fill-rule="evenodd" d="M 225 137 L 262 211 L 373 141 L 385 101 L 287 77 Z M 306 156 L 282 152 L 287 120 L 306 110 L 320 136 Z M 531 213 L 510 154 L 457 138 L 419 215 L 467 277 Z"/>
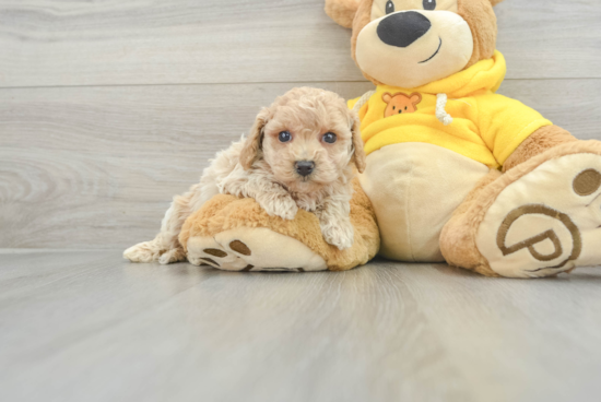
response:
<path fill-rule="evenodd" d="M 221 194 L 186 221 L 179 241 L 196 265 L 227 271 L 344 271 L 374 258 L 380 243 L 372 203 L 356 179 L 351 222 L 355 241 L 341 251 L 323 240 L 315 214 L 300 210 L 285 221 L 269 216 L 252 199 Z"/>

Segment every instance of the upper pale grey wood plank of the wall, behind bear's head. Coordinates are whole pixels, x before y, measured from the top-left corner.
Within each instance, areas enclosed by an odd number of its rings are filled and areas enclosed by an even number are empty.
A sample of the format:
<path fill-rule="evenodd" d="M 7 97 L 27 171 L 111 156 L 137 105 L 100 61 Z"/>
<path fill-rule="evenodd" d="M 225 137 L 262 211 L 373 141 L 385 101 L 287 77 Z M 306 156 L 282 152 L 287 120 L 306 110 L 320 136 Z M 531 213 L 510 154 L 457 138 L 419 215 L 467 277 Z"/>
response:
<path fill-rule="evenodd" d="M 511 79 L 601 78 L 597 0 L 507 0 Z M 0 1 L 0 87 L 363 81 L 323 0 Z"/>

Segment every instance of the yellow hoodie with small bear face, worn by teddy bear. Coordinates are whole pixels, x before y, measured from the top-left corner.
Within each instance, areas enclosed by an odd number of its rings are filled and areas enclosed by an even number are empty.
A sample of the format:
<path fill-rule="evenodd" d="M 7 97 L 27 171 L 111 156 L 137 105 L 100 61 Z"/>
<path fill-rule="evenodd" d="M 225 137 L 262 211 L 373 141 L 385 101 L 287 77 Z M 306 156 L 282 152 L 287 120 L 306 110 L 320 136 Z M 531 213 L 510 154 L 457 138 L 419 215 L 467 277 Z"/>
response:
<path fill-rule="evenodd" d="M 493 168 L 503 166 L 523 140 L 552 125 L 522 103 L 495 93 L 506 71 L 505 58 L 496 51 L 492 59 L 416 88 L 378 85 L 360 110 L 366 153 L 426 142 Z M 448 126 L 436 117 L 438 94 L 448 96 L 446 111 L 453 119 Z M 350 100 L 349 107 L 357 102 Z"/>

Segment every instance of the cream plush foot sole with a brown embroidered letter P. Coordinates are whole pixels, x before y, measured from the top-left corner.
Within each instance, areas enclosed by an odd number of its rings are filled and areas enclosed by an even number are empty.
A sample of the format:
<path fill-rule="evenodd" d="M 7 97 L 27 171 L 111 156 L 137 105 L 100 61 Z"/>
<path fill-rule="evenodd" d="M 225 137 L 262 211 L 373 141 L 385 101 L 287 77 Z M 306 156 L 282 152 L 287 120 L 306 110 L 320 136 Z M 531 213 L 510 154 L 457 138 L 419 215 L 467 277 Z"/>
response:
<path fill-rule="evenodd" d="M 508 185 L 486 212 L 476 246 L 502 276 L 601 264 L 601 146 L 546 161 Z"/>

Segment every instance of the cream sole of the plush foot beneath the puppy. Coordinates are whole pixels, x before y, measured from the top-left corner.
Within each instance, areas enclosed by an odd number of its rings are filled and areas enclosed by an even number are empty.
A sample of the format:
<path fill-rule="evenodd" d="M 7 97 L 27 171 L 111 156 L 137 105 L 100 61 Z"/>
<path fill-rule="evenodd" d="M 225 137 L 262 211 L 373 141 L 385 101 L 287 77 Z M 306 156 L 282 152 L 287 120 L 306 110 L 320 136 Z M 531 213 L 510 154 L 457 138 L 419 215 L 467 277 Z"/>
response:
<path fill-rule="evenodd" d="M 268 228 L 240 227 L 188 239 L 188 261 L 226 271 L 323 271 L 326 261 L 300 241 Z"/>

